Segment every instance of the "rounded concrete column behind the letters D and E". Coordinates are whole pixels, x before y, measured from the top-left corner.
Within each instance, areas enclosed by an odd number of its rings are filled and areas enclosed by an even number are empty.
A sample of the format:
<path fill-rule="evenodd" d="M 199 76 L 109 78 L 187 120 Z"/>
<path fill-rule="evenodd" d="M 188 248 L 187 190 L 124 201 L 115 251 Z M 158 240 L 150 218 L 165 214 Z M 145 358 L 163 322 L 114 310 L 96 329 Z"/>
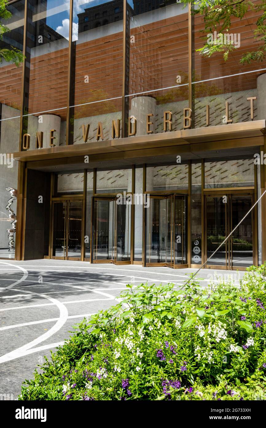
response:
<path fill-rule="evenodd" d="M 149 122 L 155 124 L 156 115 L 156 100 L 152 97 L 135 97 L 131 101 L 131 109 L 129 116 L 134 116 L 137 119 L 136 135 L 147 135 L 146 131 L 146 115 L 152 113 Z M 150 125 L 150 130 L 155 132 L 155 125 Z"/>

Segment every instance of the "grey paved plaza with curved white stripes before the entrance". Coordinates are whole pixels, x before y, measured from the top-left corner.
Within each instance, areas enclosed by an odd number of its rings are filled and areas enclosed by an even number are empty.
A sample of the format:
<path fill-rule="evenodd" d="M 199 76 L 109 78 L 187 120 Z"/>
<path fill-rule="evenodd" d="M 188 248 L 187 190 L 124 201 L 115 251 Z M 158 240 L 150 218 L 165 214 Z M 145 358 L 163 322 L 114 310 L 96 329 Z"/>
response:
<path fill-rule="evenodd" d="M 178 288 L 195 269 L 96 264 L 61 260 L 0 262 L 0 394 L 16 399 L 50 350 L 63 344 L 76 323 L 117 303 L 126 284 L 174 282 Z M 237 282 L 244 272 L 216 271 Z M 213 270 L 200 283 L 216 280 Z M 2 395 L 1 395 L 2 397 Z"/>

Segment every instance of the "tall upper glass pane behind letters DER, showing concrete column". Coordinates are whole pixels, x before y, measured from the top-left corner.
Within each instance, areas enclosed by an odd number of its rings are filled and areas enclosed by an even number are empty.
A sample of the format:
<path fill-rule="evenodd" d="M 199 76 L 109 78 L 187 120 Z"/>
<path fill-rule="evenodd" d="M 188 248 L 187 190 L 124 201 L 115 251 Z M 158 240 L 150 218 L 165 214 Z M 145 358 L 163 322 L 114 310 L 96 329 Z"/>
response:
<path fill-rule="evenodd" d="M 164 111 L 172 130 L 183 128 L 188 107 L 188 12 L 175 0 L 128 0 L 126 33 L 126 123 L 136 135 L 164 131 Z M 168 116 L 169 118 L 169 116 Z M 127 135 L 126 135 L 127 136 Z"/>

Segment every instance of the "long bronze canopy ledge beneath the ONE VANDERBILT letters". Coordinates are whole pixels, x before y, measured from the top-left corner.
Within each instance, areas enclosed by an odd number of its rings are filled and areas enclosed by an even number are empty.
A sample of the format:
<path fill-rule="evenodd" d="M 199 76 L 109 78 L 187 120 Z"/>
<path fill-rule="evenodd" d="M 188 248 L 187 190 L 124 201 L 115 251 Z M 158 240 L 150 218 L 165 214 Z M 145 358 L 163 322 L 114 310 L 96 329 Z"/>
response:
<path fill-rule="evenodd" d="M 103 153 L 127 152 L 139 149 L 153 149 L 156 147 L 184 146 L 195 144 L 191 150 L 201 150 L 201 143 L 206 143 L 208 149 L 213 149 L 211 143 L 226 140 L 246 140 L 248 138 L 263 137 L 266 134 L 266 120 L 253 122 L 232 123 L 228 125 L 210 126 L 208 128 L 184 129 L 181 131 L 169 131 L 160 134 L 141 135 L 136 137 L 117 138 L 114 140 L 96 141 L 93 143 L 81 143 L 70 146 L 56 146 L 49 149 L 35 149 L 13 154 L 15 160 L 35 161 L 56 158 L 73 158 L 77 156 L 96 155 Z M 252 145 L 260 145 L 258 141 L 252 141 Z M 229 143 L 229 141 L 228 141 Z M 244 141 L 243 146 L 250 145 Z M 227 144 L 226 144 L 227 146 Z M 236 145 L 238 146 L 238 145 Z M 222 149 L 223 147 L 220 147 Z M 202 146 L 203 149 L 203 146 Z"/>

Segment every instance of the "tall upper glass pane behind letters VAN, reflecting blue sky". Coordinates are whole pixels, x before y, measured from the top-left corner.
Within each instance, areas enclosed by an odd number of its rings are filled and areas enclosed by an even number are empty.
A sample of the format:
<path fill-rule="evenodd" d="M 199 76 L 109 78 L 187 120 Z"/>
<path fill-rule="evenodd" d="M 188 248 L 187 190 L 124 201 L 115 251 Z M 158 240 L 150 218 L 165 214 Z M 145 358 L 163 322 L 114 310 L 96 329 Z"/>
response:
<path fill-rule="evenodd" d="M 110 139 L 112 120 L 120 137 L 123 0 L 73 0 L 70 77 L 69 144 Z"/>

